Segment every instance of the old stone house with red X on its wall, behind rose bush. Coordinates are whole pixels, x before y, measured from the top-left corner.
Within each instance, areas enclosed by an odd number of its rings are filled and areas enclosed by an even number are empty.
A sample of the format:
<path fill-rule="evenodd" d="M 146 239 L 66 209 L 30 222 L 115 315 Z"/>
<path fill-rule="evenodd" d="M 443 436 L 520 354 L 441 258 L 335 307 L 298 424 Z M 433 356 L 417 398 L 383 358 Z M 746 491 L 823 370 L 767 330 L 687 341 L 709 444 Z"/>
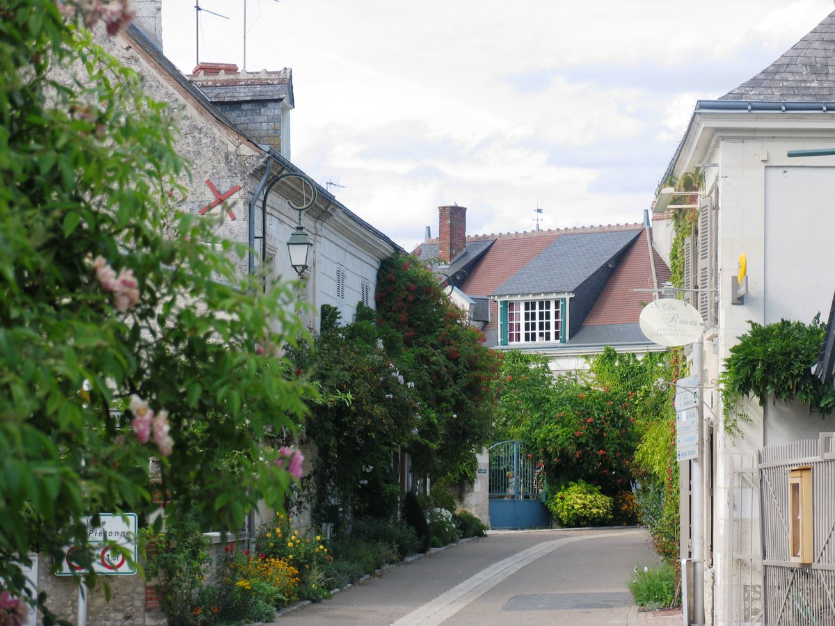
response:
<path fill-rule="evenodd" d="M 175 198 L 176 210 L 216 220 L 219 235 L 250 245 L 253 253 L 235 256 L 242 275 L 264 271 L 276 280 L 301 276 L 297 293 L 313 305 L 304 321 L 314 330 L 321 305 L 336 306 L 347 321 L 358 302 L 373 307 L 377 267 L 401 248 L 289 160 L 291 71 L 245 73 L 234 65 L 201 63 L 186 77 L 162 50 L 161 0 L 134 0 L 133 5 L 133 24 L 114 38 L 98 33 L 96 39 L 142 76 L 150 98 L 166 103 L 175 114 L 176 148 L 190 163 L 190 176 L 180 180 L 186 192 Z M 306 204 L 306 210 L 296 210 Z M 299 225 L 312 244 L 301 273 L 291 265 L 286 247 Z M 254 536 L 259 522 L 258 513 L 252 515 L 240 540 Z M 212 537 L 215 550 L 222 549 L 220 535 Z M 54 576 L 52 564 L 41 558 L 38 590 L 48 593 L 60 617 L 73 621 L 78 588 L 72 578 Z M 91 626 L 164 623 L 152 584 L 138 575 L 110 576 L 107 583 L 109 602 L 101 585 L 89 591 Z"/>

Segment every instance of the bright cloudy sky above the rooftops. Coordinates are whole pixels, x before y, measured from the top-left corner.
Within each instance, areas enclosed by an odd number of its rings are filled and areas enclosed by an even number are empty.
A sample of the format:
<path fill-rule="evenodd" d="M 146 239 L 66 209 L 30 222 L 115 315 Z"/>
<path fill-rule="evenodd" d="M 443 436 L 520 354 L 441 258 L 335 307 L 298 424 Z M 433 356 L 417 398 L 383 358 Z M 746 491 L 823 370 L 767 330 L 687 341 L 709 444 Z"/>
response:
<path fill-rule="evenodd" d="M 291 160 L 407 250 L 438 233 L 640 222 L 696 99 L 751 78 L 833 0 L 200 0 L 200 61 L 292 68 Z M 164 51 L 195 67 L 195 0 Z M 228 19 L 215 17 L 220 13 Z"/>

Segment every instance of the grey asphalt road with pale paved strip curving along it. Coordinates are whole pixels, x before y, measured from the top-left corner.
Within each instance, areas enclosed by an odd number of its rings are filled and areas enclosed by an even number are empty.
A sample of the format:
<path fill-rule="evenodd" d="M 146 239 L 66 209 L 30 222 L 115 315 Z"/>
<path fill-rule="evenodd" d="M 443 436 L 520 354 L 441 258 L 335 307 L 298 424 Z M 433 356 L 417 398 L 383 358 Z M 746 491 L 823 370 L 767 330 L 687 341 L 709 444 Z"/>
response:
<path fill-rule="evenodd" d="M 491 533 L 433 551 L 276 620 L 301 624 L 627 624 L 626 580 L 656 563 L 635 528 Z"/>

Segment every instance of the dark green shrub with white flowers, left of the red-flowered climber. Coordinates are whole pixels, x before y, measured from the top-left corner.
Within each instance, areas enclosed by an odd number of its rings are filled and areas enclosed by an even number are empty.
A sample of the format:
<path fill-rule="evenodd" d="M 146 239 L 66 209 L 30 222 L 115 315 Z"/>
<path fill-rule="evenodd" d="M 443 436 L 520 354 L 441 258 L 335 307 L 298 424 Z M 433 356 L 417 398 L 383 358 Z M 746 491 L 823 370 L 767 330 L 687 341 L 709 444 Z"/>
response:
<path fill-rule="evenodd" d="M 305 425 L 316 443 L 316 502 L 337 500 L 352 515 L 393 517 L 400 487 L 392 453 L 412 438 L 419 398 L 369 311 L 361 306 L 357 321 L 340 326 L 338 311 L 323 306 L 313 345 L 300 343 L 289 354 L 323 396 Z"/>

